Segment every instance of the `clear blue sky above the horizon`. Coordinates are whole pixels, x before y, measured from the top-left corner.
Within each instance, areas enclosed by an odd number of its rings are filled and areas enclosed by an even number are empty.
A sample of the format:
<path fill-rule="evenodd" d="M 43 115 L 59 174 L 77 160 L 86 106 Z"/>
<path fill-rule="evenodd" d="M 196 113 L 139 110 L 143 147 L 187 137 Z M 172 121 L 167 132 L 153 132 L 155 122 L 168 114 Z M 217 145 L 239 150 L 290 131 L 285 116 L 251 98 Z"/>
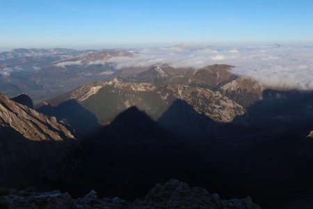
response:
<path fill-rule="evenodd" d="M 313 43 L 312 0 L 0 0 L 0 50 Z"/>

